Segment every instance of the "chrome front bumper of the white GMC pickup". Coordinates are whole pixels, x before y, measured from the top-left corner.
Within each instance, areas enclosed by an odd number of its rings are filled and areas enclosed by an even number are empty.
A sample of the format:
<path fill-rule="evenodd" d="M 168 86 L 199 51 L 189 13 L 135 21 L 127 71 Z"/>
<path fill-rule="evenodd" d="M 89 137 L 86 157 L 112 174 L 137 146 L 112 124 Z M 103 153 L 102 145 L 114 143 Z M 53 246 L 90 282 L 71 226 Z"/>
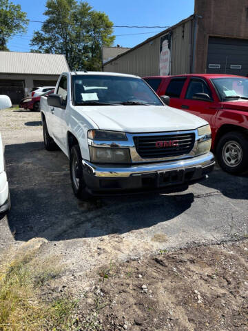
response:
<path fill-rule="evenodd" d="M 169 170 L 180 170 L 186 168 L 207 168 L 214 165 L 214 155 L 209 152 L 198 157 L 189 159 L 166 161 L 160 163 L 147 163 L 138 165 L 103 165 L 93 164 L 83 160 L 83 168 L 94 177 L 116 178 L 130 177 L 138 174 L 148 174 L 149 172 L 166 172 Z"/>

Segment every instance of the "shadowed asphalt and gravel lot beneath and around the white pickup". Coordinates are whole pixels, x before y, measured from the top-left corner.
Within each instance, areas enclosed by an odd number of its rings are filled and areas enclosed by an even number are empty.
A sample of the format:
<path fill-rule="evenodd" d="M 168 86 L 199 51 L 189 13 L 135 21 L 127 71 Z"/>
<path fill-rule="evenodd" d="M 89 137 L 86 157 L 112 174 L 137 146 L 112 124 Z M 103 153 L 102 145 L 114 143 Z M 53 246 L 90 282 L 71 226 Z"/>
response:
<path fill-rule="evenodd" d="M 83 272 L 110 259 L 247 237 L 247 175 L 216 167 L 180 194 L 83 203 L 72 194 L 68 159 L 43 147 L 40 113 L 3 110 L 0 119 L 12 200 L 0 221 L 0 248 L 40 237 L 43 254 L 59 255 L 68 270 Z"/>

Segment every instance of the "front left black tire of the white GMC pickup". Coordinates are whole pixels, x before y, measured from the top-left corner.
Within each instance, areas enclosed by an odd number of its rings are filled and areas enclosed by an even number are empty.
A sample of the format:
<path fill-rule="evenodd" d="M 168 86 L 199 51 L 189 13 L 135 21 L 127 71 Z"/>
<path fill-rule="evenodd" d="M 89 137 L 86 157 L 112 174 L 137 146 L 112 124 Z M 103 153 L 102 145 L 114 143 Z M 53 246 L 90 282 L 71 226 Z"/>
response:
<path fill-rule="evenodd" d="M 75 196 L 83 201 L 92 199 L 92 195 L 87 192 L 85 181 L 83 180 L 82 156 L 79 145 L 72 146 L 70 150 L 70 177 Z"/>

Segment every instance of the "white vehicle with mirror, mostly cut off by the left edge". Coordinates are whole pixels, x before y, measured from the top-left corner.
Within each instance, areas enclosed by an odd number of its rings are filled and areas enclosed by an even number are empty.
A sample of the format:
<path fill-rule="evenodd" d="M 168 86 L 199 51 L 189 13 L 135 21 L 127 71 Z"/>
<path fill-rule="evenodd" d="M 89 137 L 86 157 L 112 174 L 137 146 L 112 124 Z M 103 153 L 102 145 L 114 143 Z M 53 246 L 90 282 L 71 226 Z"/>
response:
<path fill-rule="evenodd" d="M 0 95 L 0 110 L 12 106 L 10 98 L 6 95 Z M 10 194 L 8 180 L 5 171 L 5 162 L 3 157 L 3 143 L 0 134 L 0 214 L 10 209 Z"/>

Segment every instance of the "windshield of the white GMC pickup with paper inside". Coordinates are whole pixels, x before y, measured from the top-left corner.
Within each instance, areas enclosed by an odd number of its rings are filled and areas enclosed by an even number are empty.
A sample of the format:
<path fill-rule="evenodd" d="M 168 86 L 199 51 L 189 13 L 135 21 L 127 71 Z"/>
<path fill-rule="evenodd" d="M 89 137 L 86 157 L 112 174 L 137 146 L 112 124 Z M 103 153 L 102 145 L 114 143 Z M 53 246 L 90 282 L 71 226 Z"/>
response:
<path fill-rule="evenodd" d="M 143 79 L 135 77 L 77 74 L 72 89 L 75 106 L 163 106 Z"/>

